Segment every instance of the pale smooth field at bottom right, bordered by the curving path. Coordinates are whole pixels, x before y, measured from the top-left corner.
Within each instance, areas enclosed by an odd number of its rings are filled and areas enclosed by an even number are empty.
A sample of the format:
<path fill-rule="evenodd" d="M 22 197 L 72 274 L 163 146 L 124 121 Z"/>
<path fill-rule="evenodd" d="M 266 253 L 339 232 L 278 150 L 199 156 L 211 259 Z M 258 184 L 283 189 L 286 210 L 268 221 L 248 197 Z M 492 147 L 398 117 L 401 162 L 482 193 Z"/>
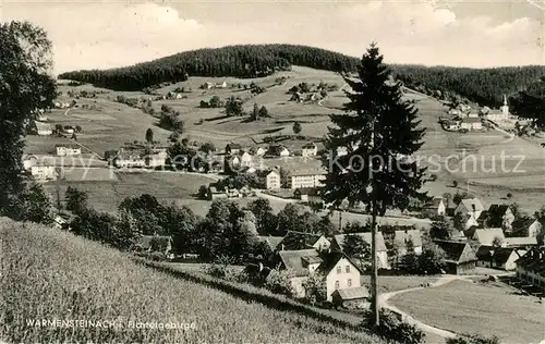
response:
<path fill-rule="evenodd" d="M 389 303 L 414 318 L 455 332 L 497 335 L 506 343 L 545 339 L 545 308 L 533 297 L 510 295 L 505 287 L 467 281 L 392 297 Z"/>

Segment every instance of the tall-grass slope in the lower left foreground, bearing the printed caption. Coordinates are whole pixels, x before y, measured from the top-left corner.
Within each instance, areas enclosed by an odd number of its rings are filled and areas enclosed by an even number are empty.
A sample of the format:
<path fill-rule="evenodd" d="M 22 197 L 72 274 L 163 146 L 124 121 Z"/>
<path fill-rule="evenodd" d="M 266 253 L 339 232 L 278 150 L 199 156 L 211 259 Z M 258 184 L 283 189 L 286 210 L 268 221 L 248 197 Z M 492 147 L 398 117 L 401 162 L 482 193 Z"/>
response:
<path fill-rule="evenodd" d="M 0 340 L 8 342 L 380 342 L 153 271 L 70 233 L 0 219 Z M 111 320 L 122 327 L 38 328 L 27 319 Z M 134 329 L 129 320 L 194 329 Z"/>

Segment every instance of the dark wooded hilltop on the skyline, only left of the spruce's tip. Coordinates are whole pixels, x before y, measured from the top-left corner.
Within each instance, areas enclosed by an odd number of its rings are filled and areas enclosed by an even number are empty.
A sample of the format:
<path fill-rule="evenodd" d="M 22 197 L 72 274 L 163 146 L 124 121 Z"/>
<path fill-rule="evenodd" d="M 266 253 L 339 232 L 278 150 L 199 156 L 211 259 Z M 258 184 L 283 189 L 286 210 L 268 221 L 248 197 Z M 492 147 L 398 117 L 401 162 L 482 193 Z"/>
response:
<path fill-rule="evenodd" d="M 112 70 L 68 72 L 59 78 L 74 79 L 112 89 L 137 90 L 189 76 L 270 75 L 291 65 L 328 71 L 354 71 L 358 59 L 338 52 L 291 45 L 245 45 L 185 51 Z"/>

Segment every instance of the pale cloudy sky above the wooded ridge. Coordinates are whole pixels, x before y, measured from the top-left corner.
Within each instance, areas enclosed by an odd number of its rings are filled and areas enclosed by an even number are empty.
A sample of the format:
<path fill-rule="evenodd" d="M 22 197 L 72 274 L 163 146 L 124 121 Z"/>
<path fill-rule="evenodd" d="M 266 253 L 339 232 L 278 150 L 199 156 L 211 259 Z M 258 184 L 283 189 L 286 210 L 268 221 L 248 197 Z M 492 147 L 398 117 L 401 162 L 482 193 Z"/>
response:
<path fill-rule="evenodd" d="M 387 62 L 545 64 L 545 0 L 3 0 L 53 41 L 55 72 L 112 67 L 234 44 L 302 44 Z"/>

